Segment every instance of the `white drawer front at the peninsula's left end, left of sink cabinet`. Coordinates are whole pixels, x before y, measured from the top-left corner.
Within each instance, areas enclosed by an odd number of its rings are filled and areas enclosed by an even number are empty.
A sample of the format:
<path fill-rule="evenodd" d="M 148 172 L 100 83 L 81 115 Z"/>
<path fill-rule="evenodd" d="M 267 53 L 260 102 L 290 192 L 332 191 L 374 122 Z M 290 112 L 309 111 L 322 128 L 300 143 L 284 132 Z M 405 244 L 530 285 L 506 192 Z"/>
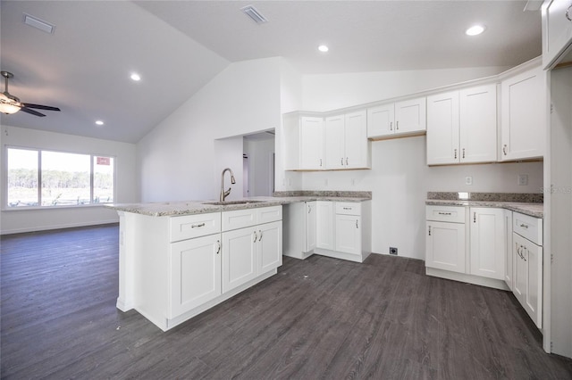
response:
<path fill-rule="evenodd" d="M 218 234 L 221 232 L 221 214 L 220 212 L 214 212 L 172 217 L 170 220 L 170 229 L 171 242 Z"/>

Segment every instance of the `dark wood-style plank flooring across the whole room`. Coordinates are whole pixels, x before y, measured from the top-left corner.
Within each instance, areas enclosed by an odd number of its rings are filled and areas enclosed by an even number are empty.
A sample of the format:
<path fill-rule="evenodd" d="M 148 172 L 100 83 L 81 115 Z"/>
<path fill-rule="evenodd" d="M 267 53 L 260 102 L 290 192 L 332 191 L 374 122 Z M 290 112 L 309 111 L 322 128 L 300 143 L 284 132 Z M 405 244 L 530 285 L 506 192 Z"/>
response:
<path fill-rule="evenodd" d="M 572 378 L 510 293 L 427 277 L 421 260 L 284 258 L 163 333 L 115 308 L 116 226 L 1 243 L 3 378 Z"/>

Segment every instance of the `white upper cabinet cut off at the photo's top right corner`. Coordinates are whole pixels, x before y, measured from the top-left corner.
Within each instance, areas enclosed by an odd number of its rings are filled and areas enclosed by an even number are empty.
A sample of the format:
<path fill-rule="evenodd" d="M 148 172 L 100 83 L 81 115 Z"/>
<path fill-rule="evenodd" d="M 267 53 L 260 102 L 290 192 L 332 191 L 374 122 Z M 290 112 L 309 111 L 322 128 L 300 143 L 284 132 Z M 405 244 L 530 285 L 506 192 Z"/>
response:
<path fill-rule="evenodd" d="M 568 54 L 568 55 L 567 55 Z M 543 4 L 543 68 L 572 61 L 572 1 L 546 0 Z"/>

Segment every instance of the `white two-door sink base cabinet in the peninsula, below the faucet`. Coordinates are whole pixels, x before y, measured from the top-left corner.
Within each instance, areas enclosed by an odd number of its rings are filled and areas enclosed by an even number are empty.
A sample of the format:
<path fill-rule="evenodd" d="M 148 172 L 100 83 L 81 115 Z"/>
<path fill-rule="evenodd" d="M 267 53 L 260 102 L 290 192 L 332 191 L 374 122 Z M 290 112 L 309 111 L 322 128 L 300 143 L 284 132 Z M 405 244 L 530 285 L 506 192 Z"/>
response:
<path fill-rule="evenodd" d="M 223 211 L 222 218 L 223 292 L 282 265 L 282 206 Z"/>

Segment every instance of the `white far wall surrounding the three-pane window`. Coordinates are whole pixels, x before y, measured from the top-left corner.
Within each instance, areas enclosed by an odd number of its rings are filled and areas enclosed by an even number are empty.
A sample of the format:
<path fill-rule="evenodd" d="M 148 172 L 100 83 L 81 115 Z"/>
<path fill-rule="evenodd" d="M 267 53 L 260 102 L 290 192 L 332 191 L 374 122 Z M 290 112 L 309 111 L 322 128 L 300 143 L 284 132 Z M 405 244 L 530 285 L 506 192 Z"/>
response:
<path fill-rule="evenodd" d="M 114 202 L 139 202 L 138 179 L 135 170 L 136 153 L 135 145 L 133 144 L 64 135 L 29 128 L 3 126 L 0 145 L 2 145 L 2 161 L 5 158 L 6 145 L 114 156 L 116 158 L 116 199 Z M 0 163 L 0 167 L 2 167 L 3 179 L 3 186 L 0 186 L 0 192 L 2 194 L 1 199 L 5 202 L 4 178 L 6 178 L 6 173 L 4 164 Z M 115 211 L 106 209 L 104 206 L 41 210 L 5 210 L 3 206 L 0 221 L 1 233 L 13 234 L 113 223 L 118 222 L 119 218 Z"/>

